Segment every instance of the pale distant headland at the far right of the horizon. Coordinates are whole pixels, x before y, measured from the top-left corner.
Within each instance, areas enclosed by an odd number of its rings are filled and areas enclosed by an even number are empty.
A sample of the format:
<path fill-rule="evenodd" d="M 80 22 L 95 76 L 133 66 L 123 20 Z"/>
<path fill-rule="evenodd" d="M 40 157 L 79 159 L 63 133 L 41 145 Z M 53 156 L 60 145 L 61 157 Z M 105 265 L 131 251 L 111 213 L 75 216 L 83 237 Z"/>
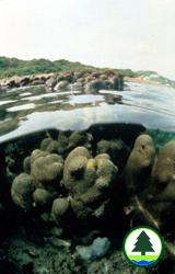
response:
<path fill-rule="evenodd" d="M 151 70 L 139 70 L 136 72 L 139 76 L 143 76 L 143 80 L 150 80 L 153 82 L 161 82 L 162 84 L 170 84 L 171 87 L 175 88 L 175 81 L 170 80 L 163 76 L 158 75 L 155 71 Z"/>

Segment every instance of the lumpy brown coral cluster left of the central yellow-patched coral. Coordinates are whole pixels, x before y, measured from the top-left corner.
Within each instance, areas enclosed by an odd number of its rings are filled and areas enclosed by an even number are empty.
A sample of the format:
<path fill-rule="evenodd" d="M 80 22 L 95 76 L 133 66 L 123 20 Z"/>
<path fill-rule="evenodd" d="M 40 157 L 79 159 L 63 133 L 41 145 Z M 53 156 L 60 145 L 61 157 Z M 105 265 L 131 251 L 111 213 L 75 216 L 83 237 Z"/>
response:
<path fill-rule="evenodd" d="M 63 159 L 59 155 L 35 149 L 24 159 L 24 172 L 12 183 L 13 202 L 24 210 L 33 207 L 39 212 L 50 210 L 52 201 L 59 196 L 63 172 Z"/>

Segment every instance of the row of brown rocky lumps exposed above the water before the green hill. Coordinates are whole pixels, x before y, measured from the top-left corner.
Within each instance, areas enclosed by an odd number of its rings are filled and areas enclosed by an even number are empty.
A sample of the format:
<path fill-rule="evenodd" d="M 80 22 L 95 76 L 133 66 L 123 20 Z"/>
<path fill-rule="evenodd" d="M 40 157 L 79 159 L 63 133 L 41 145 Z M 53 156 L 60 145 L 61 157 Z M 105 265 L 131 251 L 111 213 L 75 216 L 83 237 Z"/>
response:
<path fill-rule="evenodd" d="M 97 72 L 92 69 L 83 69 L 79 72 L 65 71 L 43 73 L 37 76 L 13 76 L 0 80 L 0 90 L 7 91 L 14 88 L 45 84 L 47 92 L 54 91 L 82 91 L 83 93 L 98 90 L 124 90 L 124 76 L 108 69 Z"/>

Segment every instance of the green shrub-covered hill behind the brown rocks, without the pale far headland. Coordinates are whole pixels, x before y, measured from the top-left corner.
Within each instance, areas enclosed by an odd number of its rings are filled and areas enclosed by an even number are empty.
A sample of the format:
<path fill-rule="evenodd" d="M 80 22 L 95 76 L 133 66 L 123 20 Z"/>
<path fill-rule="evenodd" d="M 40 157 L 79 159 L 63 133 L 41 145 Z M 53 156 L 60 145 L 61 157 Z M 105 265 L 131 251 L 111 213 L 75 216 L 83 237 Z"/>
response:
<path fill-rule="evenodd" d="M 63 72 L 63 71 L 80 71 L 82 69 L 90 68 L 96 71 L 103 72 L 108 68 L 96 68 L 93 66 L 86 66 L 79 61 L 68 61 L 65 59 L 50 61 L 47 59 L 32 59 L 21 60 L 18 58 L 0 57 L 0 78 L 11 76 L 27 76 L 39 75 L 48 72 Z M 115 72 L 119 71 L 128 77 L 137 77 L 138 75 L 131 69 L 114 69 Z"/>

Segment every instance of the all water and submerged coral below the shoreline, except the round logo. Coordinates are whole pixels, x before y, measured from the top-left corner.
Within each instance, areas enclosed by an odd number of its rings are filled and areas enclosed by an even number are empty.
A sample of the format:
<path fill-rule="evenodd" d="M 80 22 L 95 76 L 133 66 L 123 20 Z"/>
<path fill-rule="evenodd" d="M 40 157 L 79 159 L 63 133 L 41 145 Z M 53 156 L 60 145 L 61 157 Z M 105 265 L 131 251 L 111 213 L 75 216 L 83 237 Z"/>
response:
<path fill-rule="evenodd" d="M 175 273 L 175 89 L 0 91 L 0 274 Z M 137 226 L 158 264 L 122 252 Z"/>

